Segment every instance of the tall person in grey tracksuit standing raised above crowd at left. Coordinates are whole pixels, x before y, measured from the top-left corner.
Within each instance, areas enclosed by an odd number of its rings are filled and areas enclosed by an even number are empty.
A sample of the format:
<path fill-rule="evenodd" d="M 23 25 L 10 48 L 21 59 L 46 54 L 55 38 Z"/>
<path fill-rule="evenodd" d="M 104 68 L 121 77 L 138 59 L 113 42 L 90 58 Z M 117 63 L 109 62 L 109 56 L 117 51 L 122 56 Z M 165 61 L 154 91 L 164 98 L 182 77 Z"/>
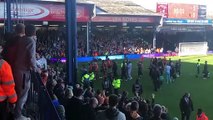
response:
<path fill-rule="evenodd" d="M 36 28 L 34 25 L 25 27 L 26 36 L 17 43 L 16 58 L 13 72 L 16 83 L 18 101 L 15 108 L 15 120 L 29 120 L 22 115 L 31 83 L 31 71 L 37 72 L 36 66 Z"/>

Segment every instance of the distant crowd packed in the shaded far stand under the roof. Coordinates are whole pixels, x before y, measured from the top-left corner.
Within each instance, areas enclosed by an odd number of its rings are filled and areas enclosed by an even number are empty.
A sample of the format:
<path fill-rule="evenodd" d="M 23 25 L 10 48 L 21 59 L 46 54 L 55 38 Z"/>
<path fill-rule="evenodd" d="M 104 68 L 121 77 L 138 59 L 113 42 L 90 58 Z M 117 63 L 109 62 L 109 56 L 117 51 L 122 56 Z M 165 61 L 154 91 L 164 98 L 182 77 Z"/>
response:
<path fill-rule="evenodd" d="M 151 50 L 151 44 L 144 40 L 144 38 L 151 40 L 151 33 L 143 36 L 137 32 L 94 30 L 89 42 L 89 53 L 87 54 L 85 33 L 86 31 L 78 32 L 78 56 L 142 54 L 149 53 Z M 65 57 L 66 42 L 63 28 L 57 30 L 41 28 L 37 31 L 37 39 L 37 51 L 45 55 L 47 59 Z"/>

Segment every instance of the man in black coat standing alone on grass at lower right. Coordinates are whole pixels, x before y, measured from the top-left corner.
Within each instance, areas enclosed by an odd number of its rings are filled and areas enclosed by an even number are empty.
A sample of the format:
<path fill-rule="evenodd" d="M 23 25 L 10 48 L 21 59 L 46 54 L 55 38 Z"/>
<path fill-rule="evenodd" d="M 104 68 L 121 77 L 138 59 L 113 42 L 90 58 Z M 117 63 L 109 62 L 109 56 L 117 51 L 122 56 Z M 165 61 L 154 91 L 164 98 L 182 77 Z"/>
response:
<path fill-rule="evenodd" d="M 181 120 L 190 120 L 190 114 L 194 110 L 190 93 L 185 93 L 185 95 L 181 98 L 179 105 L 182 118 Z"/>

